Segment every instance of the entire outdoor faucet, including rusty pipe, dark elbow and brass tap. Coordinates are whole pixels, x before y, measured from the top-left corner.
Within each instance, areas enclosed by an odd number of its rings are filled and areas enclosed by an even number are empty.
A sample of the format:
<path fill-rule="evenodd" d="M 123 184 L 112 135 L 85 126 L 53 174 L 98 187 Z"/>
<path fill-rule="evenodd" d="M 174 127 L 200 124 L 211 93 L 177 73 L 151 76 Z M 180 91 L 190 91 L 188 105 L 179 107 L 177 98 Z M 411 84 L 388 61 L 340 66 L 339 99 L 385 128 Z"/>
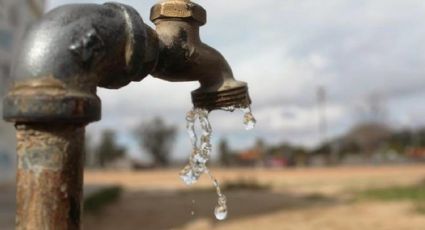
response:
<path fill-rule="evenodd" d="M 17 128 L 16 229 L 80 229 L 84 132 L 100 120 L 97 87 L 147 75 L 199 81 L 195 108 L 246 108 L 247 84 L 201 42 L 206 11 L 188 0 L 155 5 L 151 20 L 119 3 L 65 5 L 26 33 L 14 61 L 3 117 Z"/>

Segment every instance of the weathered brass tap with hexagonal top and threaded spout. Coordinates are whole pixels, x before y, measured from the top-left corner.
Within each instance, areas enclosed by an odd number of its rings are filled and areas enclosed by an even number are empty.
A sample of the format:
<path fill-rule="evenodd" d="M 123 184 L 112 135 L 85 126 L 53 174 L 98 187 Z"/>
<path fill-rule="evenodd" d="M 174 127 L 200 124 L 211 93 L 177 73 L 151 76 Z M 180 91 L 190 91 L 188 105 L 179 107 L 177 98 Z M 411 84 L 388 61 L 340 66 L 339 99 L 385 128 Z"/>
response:
<path fill-rule="evenodd" d="M 207 20 L 202 6 L 187 0 L 168 0 L 151 9 L 160 43 L 153 76 L 168 81 L 199 81 L 192 92 L 195 107 L 208 110 L 246 108 L 251 103 L 245 82 L 236 81 L 220 52 L 203 43 L 199 28 Z"/>

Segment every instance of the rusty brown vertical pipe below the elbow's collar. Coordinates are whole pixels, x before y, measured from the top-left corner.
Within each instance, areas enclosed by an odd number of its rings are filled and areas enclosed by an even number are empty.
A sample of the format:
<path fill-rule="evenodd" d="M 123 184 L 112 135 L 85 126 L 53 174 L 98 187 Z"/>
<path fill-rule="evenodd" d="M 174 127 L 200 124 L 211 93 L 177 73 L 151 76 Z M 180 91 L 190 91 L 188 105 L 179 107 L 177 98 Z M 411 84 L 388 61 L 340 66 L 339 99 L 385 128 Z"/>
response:
<path fill-rule="evenodd" d="M 18 230 L 80 229 L 84 125 L 17 125 Z"/>

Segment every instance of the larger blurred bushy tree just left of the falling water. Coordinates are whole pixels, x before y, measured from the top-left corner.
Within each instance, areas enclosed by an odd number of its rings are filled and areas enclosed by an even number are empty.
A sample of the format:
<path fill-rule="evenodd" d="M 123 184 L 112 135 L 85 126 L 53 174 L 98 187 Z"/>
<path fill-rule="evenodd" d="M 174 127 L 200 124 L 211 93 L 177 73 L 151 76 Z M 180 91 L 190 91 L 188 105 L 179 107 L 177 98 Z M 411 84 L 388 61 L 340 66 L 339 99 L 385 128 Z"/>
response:
<path fill-rule="evenodd" d="M 177 127 L 167 126 L 160 117 L 143 123 L 135 131 L 140 145 L 152 155 L 158 166 L 169 165 L 176 134 Z"/>

